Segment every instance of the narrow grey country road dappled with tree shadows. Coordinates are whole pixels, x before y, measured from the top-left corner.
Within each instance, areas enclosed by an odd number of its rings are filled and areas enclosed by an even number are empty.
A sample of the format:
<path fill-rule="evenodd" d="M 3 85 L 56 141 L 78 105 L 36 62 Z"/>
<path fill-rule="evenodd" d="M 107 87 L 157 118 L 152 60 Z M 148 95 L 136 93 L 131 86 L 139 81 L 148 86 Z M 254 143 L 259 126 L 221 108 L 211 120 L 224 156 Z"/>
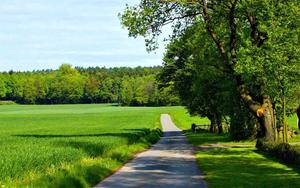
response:
<path fill-rule="evenodd" d="M 161 115 L 161 124 L 164 135 L 157 144 L 96 187 L 206 187 L 186 137 L 169 115 Z"/>

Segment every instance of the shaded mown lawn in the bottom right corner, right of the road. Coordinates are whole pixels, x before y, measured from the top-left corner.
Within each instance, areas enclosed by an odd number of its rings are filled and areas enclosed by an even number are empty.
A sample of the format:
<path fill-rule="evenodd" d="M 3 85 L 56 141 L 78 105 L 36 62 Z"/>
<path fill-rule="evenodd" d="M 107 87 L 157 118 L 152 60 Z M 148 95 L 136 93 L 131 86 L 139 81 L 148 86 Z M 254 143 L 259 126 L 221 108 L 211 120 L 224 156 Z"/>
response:
<path fill-rule="evenodd" d="M 256 152 L 255 148 L 197 151 L 209 187 L 299 187 L 299 171 Z"/>

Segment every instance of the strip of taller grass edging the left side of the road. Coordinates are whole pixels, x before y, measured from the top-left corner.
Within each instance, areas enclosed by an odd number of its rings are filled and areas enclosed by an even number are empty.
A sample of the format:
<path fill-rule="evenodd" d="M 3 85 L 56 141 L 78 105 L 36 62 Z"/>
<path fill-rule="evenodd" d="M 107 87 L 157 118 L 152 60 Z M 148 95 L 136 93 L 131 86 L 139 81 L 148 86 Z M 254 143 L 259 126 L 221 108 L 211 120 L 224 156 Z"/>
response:
<path fill-rule="evenodd" d="M 131 145 L 123 145 L 105 152 L 99 157 L 83 158 L 72 164 L 63 164 L 58 169 L 48 169 L 46 175 L 20 182 L 20 186 L 30 187 L 92 187 L 121 168 L 136 153 L 148 149 L 161 136 L 161 128 L 145 131 Z M 17 184 L 16 184 L 17 185 Z"/>

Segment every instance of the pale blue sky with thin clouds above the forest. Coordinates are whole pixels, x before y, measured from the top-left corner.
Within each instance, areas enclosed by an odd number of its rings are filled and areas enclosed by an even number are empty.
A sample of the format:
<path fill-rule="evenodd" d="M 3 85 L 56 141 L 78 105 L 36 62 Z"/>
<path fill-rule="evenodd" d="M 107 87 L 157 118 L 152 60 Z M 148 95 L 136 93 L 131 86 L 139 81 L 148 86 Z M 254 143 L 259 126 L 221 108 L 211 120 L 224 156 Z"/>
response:
<path fill-rule="evenodd" d="M 161 65 L 117 17 L 138 0 L 1 0 L 0 71 Z"/>

